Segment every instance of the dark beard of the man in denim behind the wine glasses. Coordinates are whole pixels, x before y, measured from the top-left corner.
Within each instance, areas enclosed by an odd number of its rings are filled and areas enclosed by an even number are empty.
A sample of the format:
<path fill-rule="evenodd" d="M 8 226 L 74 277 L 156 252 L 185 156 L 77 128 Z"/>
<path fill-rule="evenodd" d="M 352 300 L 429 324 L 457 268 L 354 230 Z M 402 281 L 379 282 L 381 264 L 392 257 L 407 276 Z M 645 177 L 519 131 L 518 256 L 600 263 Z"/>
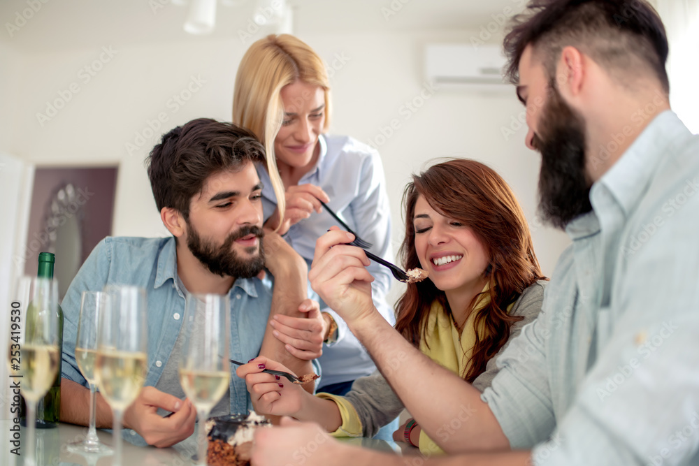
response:
<path fill-rule="evenodd" d="M 259 250 L 259 254 L 252 259 L 241 259 L 233 249 L 233 242 L 250 234 L 257 236 L 259 246 L 246 247 L 245 252 L 252 254 Z M 199 233 L 187 224 L 187 247 L 211 273 L 222 277 L 228 275 L 236 278 L 250 278 L 259 274 L 264 267 L 263 236 L 264 232 L 259 226 L 243 226 L 240 230 L 231 233 L 223 245 L 217 246 L 201 238 Z"/>

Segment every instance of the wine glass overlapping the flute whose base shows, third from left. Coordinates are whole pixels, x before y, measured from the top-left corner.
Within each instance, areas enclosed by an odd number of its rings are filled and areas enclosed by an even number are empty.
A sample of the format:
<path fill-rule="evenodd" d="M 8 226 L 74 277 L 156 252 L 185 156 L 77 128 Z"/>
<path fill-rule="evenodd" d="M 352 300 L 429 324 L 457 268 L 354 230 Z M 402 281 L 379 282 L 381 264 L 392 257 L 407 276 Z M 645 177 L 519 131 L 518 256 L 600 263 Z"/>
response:
<path fill-rule="evenodd" d="M 122 418 L 138 397 L 147 373 L 145 291 L 138 286 L 108 285 L 99 319 L 95 376 L 99 393 L 112 408 L 114 458 L 122 464 Z"/>

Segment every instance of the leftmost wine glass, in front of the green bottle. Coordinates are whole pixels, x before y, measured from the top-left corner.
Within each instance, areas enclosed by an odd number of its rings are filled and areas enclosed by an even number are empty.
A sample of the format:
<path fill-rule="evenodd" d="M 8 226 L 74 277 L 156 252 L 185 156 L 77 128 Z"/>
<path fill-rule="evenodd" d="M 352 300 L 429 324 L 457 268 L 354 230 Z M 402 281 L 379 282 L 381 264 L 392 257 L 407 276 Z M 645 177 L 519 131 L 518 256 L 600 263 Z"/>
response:
<path fill-rule="evenodd" d="M 10 305 L 8 367 L 10 378 L 20 384 L 27 405 L 25 465 L 36 465 L 36 403 L 48 392 L 58 372 L 58 282 L 21 277 Z M 15 319 L 16 318 L 16 319 Z"/>

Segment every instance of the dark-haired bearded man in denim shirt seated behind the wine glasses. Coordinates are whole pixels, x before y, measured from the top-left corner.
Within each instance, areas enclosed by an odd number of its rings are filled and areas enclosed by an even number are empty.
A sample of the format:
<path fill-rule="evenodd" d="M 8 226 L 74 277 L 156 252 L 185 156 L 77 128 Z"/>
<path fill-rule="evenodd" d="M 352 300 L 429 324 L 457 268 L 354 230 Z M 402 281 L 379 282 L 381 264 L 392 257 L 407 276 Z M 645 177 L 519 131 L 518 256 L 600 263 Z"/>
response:
<path fill-rule="evenodd" d="M 131 429 L 125 438 L 132 442 L 140 442 L 140 435 L 147 444 L 171 446 L 194 430 L 196 409 L 178 380 L 187 292 L 230 296 L 231 358 L 248 361 L 263 354 L 286 359 L 297 374 L 319 372 L 317 363 L 291 356 L 267 325 L 275 314 L 308 315 L 317 320 L 317 332 L 309 330 L 305 340 L 315 340 L 320 350 L 322 316 L 317 303 L 305 299 L 308 267 L 279 235 L 262 229 L 262 184 L 255 164 L 264 159 L 264 147 L 250 131 L 213 119 L 178 126 L 154 147 L 148 175 L 172 236 L 105 238 L 73 279 L 62 303 L 62 421 L 87 425 L 89 390 L 75 362 L 80 296 L 106 284 L 131 284 L 147 292 L 148 373 L 145 388 L 124 413 L 124 427 Z M 271 275 L 262 274 L 263 268 Z M 307 389 L 312 391 L 312 384 Z M 96 400 L 97 427 L 111 427 L 110 408 L 101 396 Z M 231 377 L 212 416 L 249 409 L 245 381 Z M 172 415 L 164 416 L 167 412 Z"/>

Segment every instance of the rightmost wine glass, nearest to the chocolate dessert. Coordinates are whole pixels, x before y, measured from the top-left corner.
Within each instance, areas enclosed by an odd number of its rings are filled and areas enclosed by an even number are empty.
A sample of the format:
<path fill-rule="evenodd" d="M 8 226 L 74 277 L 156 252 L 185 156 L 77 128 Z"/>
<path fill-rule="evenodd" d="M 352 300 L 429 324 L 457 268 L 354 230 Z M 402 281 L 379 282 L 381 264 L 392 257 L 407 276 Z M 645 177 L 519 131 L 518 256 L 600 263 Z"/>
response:
<path fill-rule="evenodd" d="M 180 354 L 180 384 L 199 417 L 198 464 L 206 465 L 206 418 L 229 387 L 229 297 L 188 294 L 185 340 Z"/>

